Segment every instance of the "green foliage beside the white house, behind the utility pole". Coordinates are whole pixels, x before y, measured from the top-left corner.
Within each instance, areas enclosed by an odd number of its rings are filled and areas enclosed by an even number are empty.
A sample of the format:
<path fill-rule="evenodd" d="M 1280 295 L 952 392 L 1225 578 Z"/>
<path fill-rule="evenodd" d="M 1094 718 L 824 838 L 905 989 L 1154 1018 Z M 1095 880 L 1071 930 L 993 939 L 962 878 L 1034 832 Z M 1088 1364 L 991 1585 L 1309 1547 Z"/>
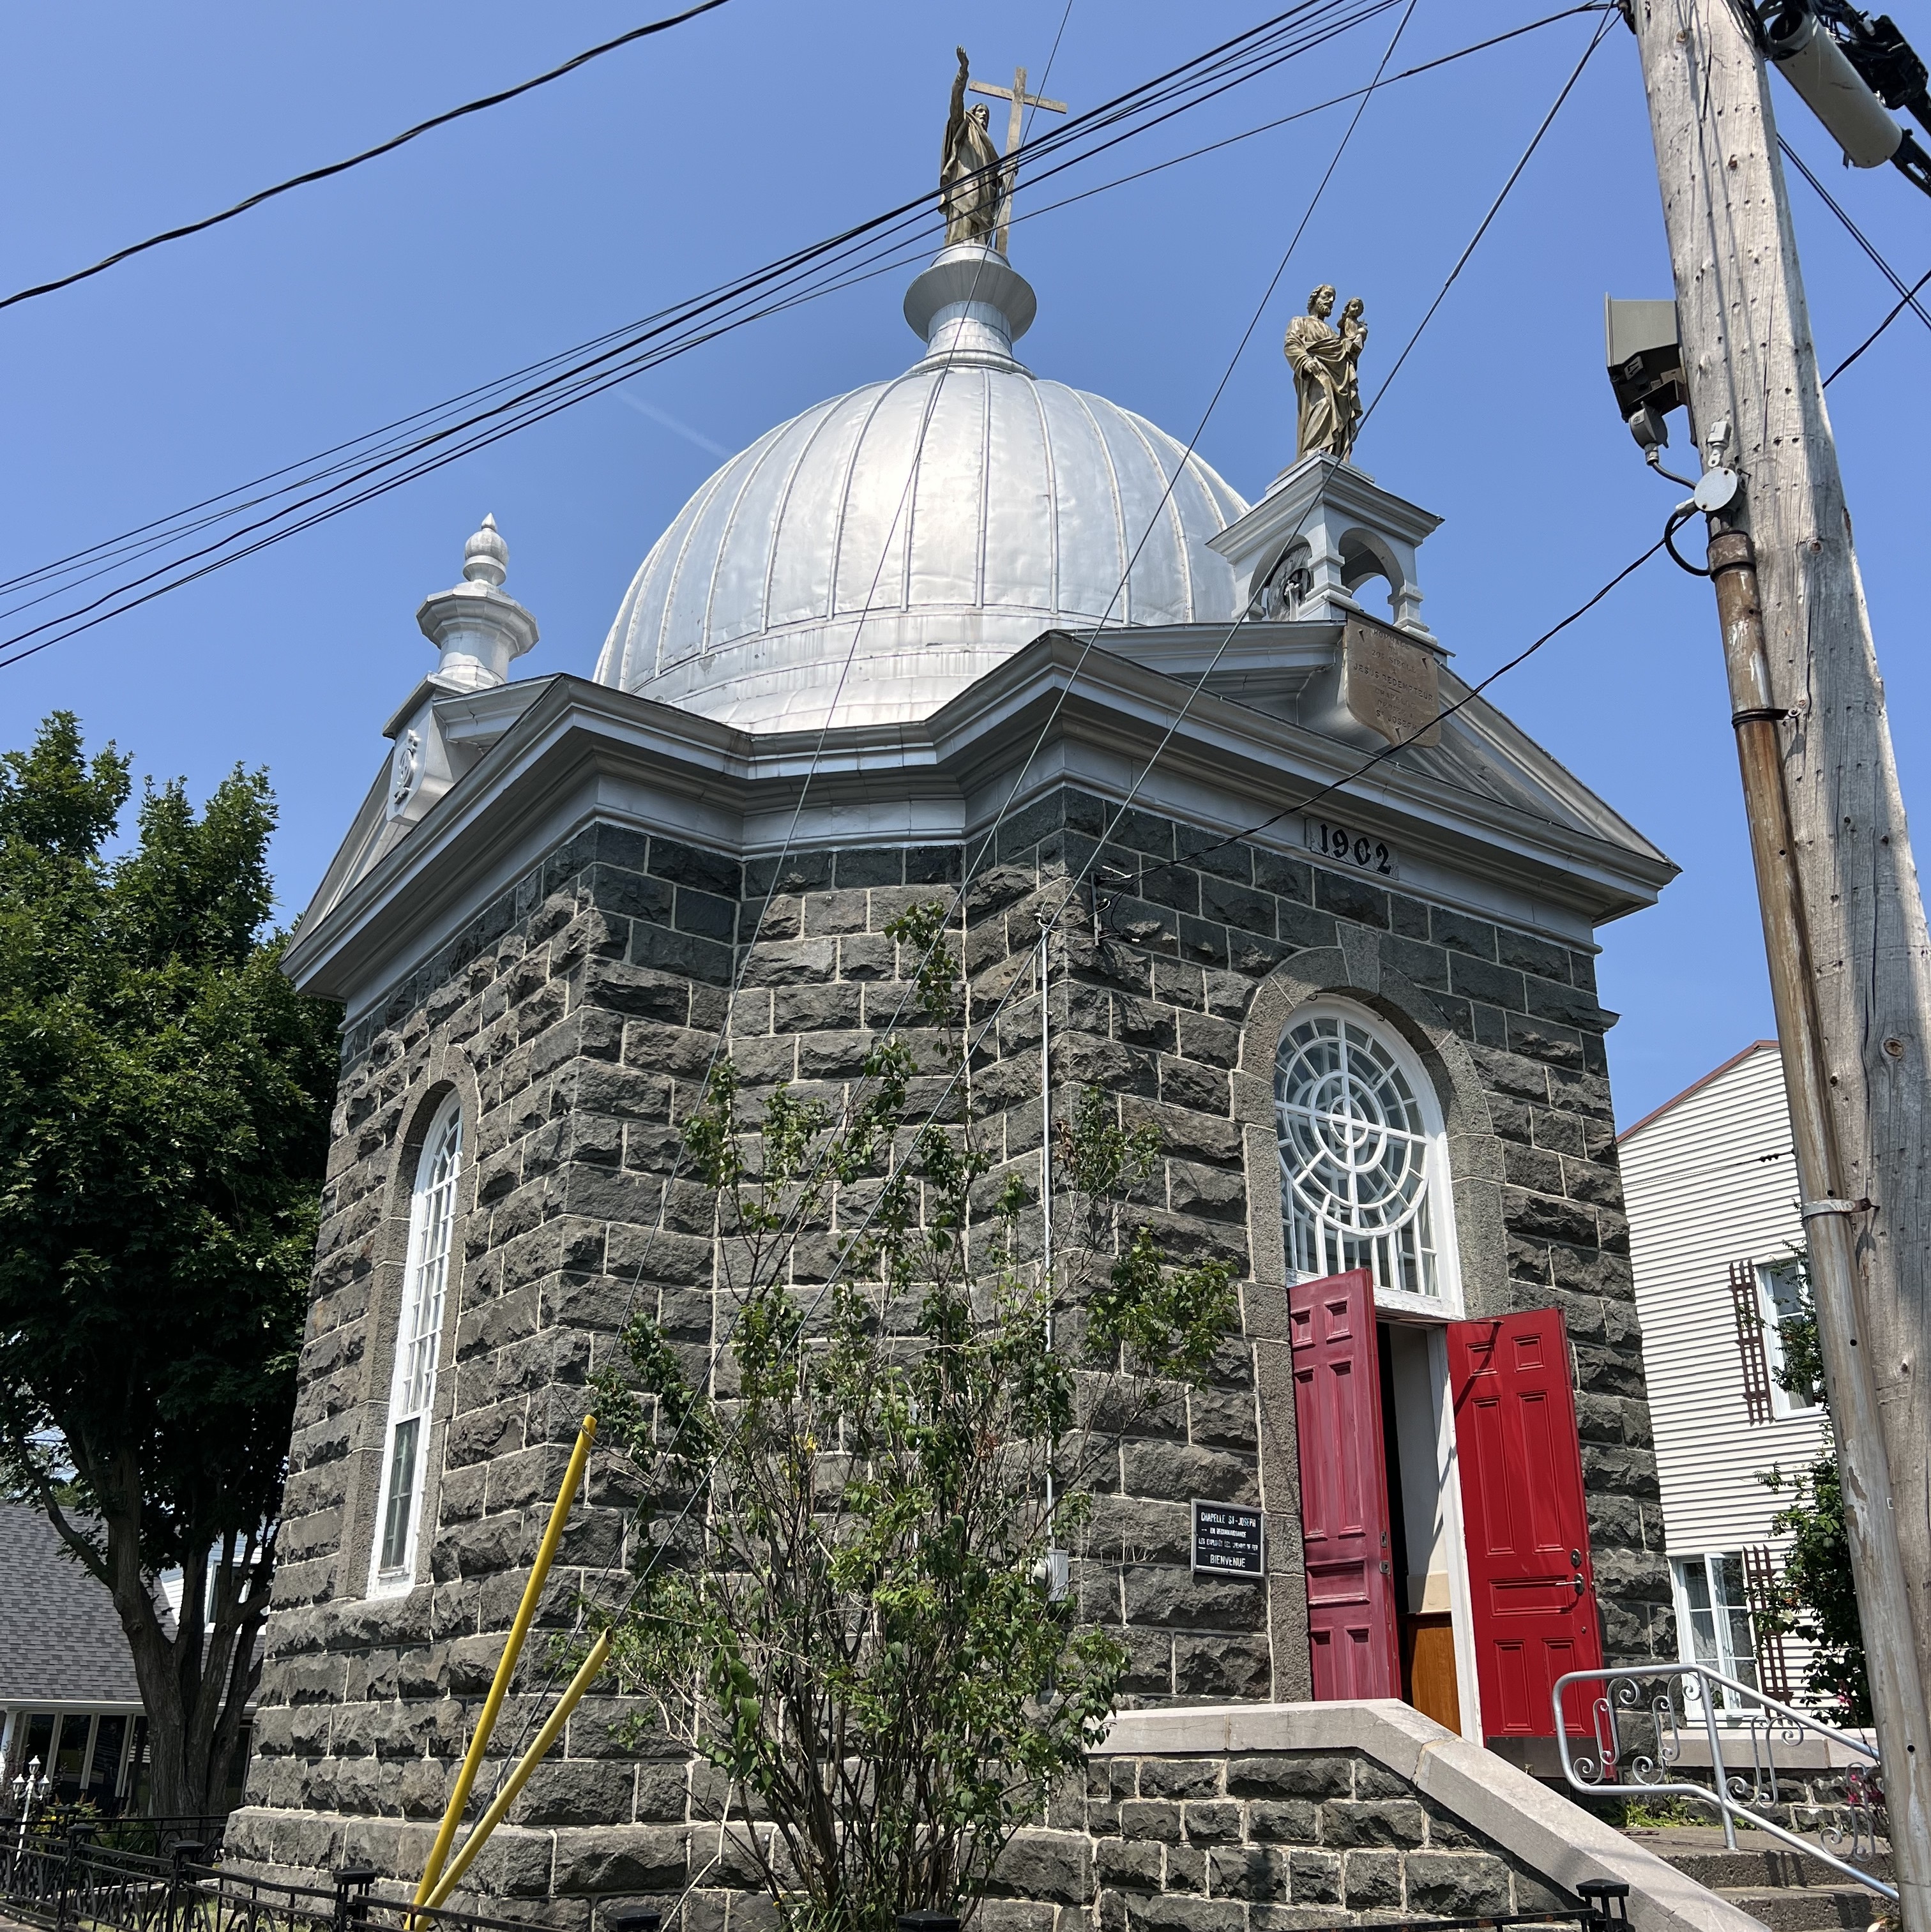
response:
<path fill-rule="evenodd" d="M 1792 1256 L 1792 1264 L 1798 1271 L 1800 1312 L 1776 1325 L 1784 1352 L 1776 1381 L 1801 1401 L 1823 1405 L 1829 1422 L 1809 1264 L 1801 1252 Z M 1811 1665 L 1803 1681 L 1811 1696 L 1834 1704 L 1844 1723 L 1869 1723 L 1871 1683 L 1863 1662 L 1858 1592 L 1850 1580 L 1850 1532 L 1844 1528 L 1836 1443 L 1827 1439 L 1809 1468 L 1772 1468 L 1761 1480 L 1790 1497 L 1771 1519 L 1772 1534 L 1788 1536 L 1790 1546 L 1759 1625 L 1767 1636 L 1800 1636 L 1807 1642 Z"/>

